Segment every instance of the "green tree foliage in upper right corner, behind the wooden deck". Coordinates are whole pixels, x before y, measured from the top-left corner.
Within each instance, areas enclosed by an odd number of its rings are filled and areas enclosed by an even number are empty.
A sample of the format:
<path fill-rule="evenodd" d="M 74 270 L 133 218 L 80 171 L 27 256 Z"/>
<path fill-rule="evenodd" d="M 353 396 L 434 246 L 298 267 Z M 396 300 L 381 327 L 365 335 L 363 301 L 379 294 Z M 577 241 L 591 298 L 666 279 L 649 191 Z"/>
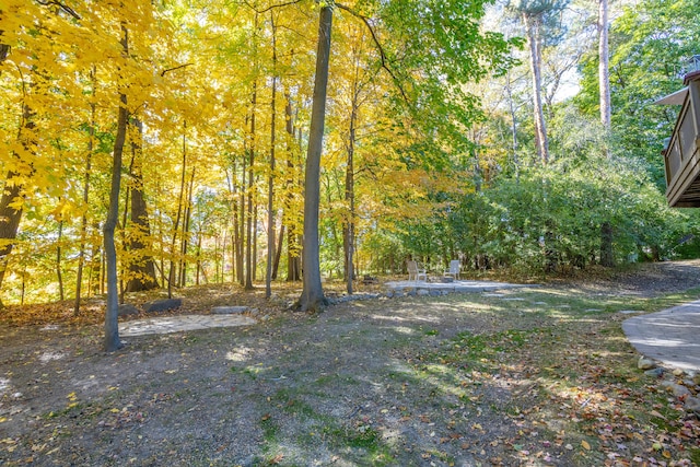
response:
<path fill-rule="evenodd" d="M 688 60 L 700 44 L 700 3 L 695 0 L 644 0 L 627 7 L 610 28 L 610 94 L 614 148 L 643 160 L 652 179 L 665 189 L 660 151 L 678 115 L 675 106 L 653 102 L 682 86 Z M 581 65 L 576 103 L 598 114 L 597 51 Z"/>

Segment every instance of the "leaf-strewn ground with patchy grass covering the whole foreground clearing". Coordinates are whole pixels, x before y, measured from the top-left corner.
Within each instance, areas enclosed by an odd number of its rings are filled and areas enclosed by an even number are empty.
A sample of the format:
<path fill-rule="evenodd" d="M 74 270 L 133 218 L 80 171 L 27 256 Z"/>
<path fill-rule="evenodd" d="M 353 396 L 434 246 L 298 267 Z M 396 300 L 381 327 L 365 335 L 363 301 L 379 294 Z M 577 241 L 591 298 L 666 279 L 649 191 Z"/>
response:
<path fill-rule="evenodd" d="M 98 304 L 80 318 L 37 306 L 33 324 L 11 308 L 0 326 L 0 463 L 697 465 L 697 415 L 637 369 L 619 312 L 697 299 L 699 269 L 316 315 L 284 311 L 291 290 L 267 303 L 200 289 L 180 313 L 252 303 L 267 319 L 132 337 L 112 354 Z"/>

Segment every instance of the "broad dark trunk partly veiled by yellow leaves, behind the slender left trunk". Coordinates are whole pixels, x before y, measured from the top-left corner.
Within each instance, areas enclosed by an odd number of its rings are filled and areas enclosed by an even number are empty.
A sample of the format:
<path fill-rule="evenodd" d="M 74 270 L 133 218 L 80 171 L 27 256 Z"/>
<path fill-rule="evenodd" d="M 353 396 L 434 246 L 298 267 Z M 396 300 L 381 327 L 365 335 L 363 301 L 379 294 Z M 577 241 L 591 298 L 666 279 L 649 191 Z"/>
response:
<path fill-rule="evenodd" d="M 127 282 L 126 291 L 140 292 L 143 290 L 158 289 L 159 283 L 155 278 L 155 264 L 150 253 L 151 223 L 149 222 L 148 206 L 143 196 L 143 174 L 141 172 L 143 124 L 139 119 L 133 118 L 132 126 L 137 130 L 137 136 L 135 140 L 131 141 L 133 156 L 131 164 L 132 183 L 130 186 L 131 235 L 127 245 L 131 252 L 132 259 L 129 264 L 129 281 Z"/>

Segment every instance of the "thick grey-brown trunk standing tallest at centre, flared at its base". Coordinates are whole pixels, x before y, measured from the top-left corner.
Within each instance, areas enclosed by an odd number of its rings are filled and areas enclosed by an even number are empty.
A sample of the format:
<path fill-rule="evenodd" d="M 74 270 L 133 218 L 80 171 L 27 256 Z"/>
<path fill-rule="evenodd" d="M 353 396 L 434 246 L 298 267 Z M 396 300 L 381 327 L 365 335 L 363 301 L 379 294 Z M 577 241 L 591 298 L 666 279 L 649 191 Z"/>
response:
<path fill-rule="evenodd" d="M 320 197 L 320 154 L 326 117 L 326 89 L 328 86 L 331 27 L 332 8 L 324 4 L 320 8 L 318 19 L 318 50 L 316 52 L 314 102 L 311 113 L 306 172 L 304 176 L 304 249 L 302 254 L 304 273 L 303 290 L 299 302 L 299 307 L 303 312 L 317 311 L 327 303 L 320 283 L 318 205 Z"/>

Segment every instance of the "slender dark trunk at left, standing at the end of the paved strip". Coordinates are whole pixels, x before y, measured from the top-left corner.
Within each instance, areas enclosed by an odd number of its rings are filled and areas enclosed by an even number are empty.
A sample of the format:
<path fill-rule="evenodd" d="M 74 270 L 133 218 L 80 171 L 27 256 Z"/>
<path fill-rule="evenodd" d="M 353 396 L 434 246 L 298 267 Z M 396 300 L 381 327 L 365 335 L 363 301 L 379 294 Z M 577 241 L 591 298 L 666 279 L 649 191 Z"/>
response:
<path fill-rule="evenodd" d="M 126 26 L 121 26 L 124 34 L 121 47 L 124 56 L 129 55 L 129 35 Z M 119 215 L 119 189 L 121 185 L 121 156 L 124 143 L 127 137 L 127 124 L 129 112 L 127 110 L 127 96 L 119 94 L 119 114 L 117 117 L 117 135 L 114 141 L 112 187 L 109 189 L 109 209 L 104 225 L 105 257 L 107 259 L 107 310 L 105 314 L 105 350 L 113 352 L 121 348 L 119 340 L 119 291 L 117 289 L 117 249 L 114 242 L 114 232 Z"/>

